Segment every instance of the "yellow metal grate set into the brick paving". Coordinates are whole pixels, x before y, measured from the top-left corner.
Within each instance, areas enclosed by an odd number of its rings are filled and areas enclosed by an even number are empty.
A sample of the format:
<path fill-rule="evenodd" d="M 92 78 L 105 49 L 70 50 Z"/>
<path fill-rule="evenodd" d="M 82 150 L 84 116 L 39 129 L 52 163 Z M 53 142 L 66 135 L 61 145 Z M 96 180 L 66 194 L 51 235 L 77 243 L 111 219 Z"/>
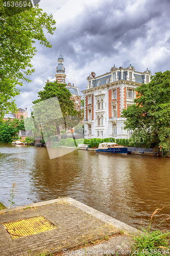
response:
<path fill-rule="evenodd" d="M 57 228 L 57 226 L 53 225 L 43 216 L 32 217 L 29 219 L 12 221 L 2 224 L 12 239 L 31 236 L 31 234 L 37 234 Z"/>

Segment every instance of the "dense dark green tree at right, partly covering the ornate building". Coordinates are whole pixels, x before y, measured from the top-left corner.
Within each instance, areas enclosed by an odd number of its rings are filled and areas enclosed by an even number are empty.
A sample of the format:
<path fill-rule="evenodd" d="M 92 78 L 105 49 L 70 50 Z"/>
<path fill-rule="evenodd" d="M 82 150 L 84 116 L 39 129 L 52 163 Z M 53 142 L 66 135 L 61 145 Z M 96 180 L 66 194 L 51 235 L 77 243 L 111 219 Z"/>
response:
<path fill-rule="evenodd" d="M 136 89 L 135 104 L 123 110 L 124 129 L 133 130 L 132 141 L 143 142 L 167 154 L 170 151 L 170 71 L 157 72 L 151 82 Z"/>

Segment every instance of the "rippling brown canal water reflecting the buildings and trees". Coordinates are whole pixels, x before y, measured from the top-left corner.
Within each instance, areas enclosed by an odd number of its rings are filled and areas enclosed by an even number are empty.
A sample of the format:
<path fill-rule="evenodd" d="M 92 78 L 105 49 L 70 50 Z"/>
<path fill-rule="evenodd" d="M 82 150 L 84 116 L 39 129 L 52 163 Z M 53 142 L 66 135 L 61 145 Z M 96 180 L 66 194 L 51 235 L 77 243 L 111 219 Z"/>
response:
<path fill-rule="evenodd" d="M 51 159 L 45 147 L 0 144 L 0 201 L 14 206 L 69 196 L 133 227 L 170 217 L 170 158 L 73 151 Z M 170 220 L 160 229 L 170 231 Z"/>

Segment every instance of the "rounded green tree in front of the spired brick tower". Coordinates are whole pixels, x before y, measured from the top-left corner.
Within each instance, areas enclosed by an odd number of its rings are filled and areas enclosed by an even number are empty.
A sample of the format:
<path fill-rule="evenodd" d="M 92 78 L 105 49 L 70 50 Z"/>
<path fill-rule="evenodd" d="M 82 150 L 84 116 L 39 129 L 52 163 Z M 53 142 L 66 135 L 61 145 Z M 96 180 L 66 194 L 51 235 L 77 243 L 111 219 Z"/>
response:
<path fill-rule="evenodd" d="M 74 108 L 74 102 L 70 100 L 71 94 L 65 88 L 66 84 L 55 82 L 47 82 L 43 91 L 38 92 L 39 99 L 33 101 L 33 116 L 38 126 L 37 121 L 42 125 L 48 135 L 54 135 L 55 131 L 60 138 L 59 126 L 74 127 L 79 122 L 77 116 L 79 112 Z M 46 107 L 45 100 L 58 98 L 58 103 L 51 100 L 51 103 Z M 40 103 L 41 102 L 41 103 Z M 37 104 L 39 103 L 39 104 Z M 71 118 L 69 116 L 72 116 Z M 46 120 L 48 120 L 46 122 Z M 55 121 L 54 121 L 55 120 Z"/>

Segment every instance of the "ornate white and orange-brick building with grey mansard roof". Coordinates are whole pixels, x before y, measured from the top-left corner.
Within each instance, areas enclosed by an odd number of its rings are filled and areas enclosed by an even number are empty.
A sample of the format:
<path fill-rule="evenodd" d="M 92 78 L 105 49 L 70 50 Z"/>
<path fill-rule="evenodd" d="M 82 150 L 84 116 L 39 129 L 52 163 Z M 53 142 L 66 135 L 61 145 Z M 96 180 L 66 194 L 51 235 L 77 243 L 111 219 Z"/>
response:
<path fill-rule="evenodd" d="M 84 138 L 129 138 L 132 131 L 124 130 L 122 110 L 132 105 L 135 89 L 150 82 L 151 71 L 135 71 L 133 66 L 111 68 L 109 73 L 87 77 L 84 94 Z"/>

